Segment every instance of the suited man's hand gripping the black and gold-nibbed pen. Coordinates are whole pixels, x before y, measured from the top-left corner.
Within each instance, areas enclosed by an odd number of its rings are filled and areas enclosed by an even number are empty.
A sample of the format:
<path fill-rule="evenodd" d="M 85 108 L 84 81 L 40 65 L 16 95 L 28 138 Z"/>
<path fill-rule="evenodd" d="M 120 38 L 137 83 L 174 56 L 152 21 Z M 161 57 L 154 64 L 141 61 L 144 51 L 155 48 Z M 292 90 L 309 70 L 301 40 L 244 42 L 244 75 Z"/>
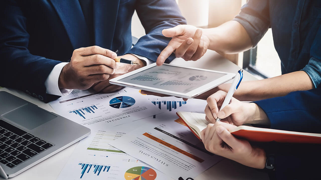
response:
<path fill-rule="evenodd" d="M 61 70 L 58 86 L 61 89 L 88 89 L 114 74 L 117 54 L 99 47 L 82 47 L 74 50 L 70 63 Z"/>

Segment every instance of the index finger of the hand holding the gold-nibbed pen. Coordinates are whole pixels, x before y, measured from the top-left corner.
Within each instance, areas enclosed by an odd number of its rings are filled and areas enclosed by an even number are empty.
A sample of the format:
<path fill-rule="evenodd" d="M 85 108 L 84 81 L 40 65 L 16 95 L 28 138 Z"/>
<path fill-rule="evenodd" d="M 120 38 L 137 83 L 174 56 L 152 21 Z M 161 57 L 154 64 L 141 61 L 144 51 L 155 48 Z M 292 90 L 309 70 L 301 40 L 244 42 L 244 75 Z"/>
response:
<path fill-rule="evenodd" d="M 82 56 L 90 56 L 90 55 L 94 55 L 94 54 L 100 54 L 112 59 L 116 59 L 117 58 L 117 54 L 109 49 L 105 49 L 102 48 L 100 46 L 94 45 L 94 46 L 90 46 L 90 47 L 82 47 L 79 48 L 77 53 L 79 53 L 79 55 Z"/>

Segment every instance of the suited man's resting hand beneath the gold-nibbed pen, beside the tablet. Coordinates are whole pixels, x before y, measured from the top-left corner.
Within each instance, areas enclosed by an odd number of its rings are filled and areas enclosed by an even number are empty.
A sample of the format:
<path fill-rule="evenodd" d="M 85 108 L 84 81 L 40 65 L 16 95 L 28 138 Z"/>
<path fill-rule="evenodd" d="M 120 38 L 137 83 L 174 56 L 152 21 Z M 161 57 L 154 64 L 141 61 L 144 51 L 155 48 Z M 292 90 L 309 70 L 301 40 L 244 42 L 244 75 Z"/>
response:
<path fill-rule="evenodd" d="M 95 91 L 109 93 L 109 92 L 120 90 L 123 88 L 123 86 L 112 85 L 109 83 L 109 79 L 115 78 L 117 76 L 126 74 L 127 72 L 136 70 L 136 69 L 141 68 L 143 66 L 146 66 L 146 62 L 144 62 L 143 60 L 140 60 L 139 58 L 137 58 L 133 54 L 125 54 L 125 55 L 119 56 L 119 57 L 127 59 L 127 60 L 131 60 L 131 61 L 136 61 L 136 62 L 140 63 L 140 65 L 131 65 L 131 64 L 124 64 L 124 63 L 117 62 L 114 74 L 111 74 L 107 80 L 96 82 L 92 86 L 92 88 Z"/>

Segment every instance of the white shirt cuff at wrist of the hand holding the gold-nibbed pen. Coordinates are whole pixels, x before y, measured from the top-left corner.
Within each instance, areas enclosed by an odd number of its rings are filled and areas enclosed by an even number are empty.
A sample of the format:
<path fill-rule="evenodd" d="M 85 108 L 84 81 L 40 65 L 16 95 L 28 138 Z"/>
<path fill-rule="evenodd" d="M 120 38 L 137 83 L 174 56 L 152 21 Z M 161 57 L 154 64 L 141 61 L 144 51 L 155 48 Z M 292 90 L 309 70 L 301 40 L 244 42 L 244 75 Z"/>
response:
<path fill-rule="evenodd" d="M 68 64 L 68 62 L 61 62 L 57 64 L 50 72 L 49 76 L 45 81 L 47 94 L 65 96 L 70 94 L 73 91 L 73 89 L 59 89 L 59 86 L 58 86 L 60 72 L 66 64 Z"/>

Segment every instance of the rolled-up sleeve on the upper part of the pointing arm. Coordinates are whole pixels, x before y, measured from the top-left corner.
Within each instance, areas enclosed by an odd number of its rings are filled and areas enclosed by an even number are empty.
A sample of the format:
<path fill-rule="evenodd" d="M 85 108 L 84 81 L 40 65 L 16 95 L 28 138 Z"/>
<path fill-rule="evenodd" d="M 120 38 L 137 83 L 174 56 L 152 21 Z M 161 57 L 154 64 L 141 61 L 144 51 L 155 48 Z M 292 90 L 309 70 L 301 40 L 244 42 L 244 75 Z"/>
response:
<path fill-rule="evenodd" d="M 269 1 L 249 0 L 233 20 L 245 28 L 255 47 L 270 27 Z"/>

